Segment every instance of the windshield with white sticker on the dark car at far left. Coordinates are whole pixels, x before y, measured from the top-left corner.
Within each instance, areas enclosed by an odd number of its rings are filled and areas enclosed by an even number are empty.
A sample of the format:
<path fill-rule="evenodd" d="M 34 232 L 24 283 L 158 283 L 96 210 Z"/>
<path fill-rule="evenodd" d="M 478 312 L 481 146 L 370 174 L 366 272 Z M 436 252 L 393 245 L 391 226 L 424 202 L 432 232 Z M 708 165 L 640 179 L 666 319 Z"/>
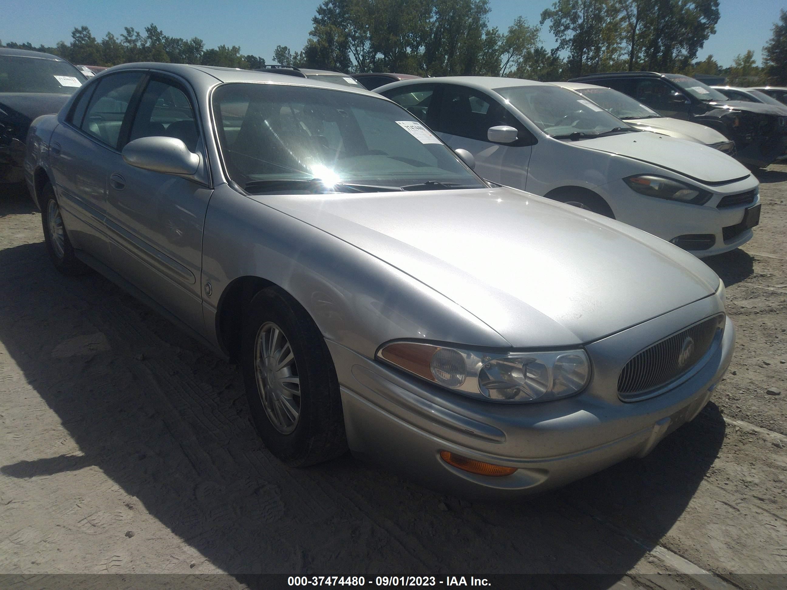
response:
<path fill-rule="evenodd" d="M 84 81 L 68 61 L 0 55 L 0 92 L 73 94 Z"/>

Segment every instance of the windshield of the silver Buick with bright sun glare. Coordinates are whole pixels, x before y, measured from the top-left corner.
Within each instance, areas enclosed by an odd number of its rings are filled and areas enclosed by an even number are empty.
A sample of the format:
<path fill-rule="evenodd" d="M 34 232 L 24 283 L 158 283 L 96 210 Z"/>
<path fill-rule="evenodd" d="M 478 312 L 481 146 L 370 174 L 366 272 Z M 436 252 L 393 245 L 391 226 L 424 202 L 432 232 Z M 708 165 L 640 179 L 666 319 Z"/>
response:
<path fill-rule="evenodd" d="M 382 98 L 227 83 L 212 108 L 227 172 L 250 193 L 486 188 L 423 124 Z"/>

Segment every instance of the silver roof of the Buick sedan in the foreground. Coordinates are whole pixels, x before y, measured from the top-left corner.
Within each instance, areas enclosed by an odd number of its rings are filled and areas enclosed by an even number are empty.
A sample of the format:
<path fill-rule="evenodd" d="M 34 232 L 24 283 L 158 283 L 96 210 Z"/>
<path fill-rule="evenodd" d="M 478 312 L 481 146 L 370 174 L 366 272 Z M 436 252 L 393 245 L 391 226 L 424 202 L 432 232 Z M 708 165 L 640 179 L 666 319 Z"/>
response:
<path fill-rule="evenodd" d="M 358 94 L 376 94 L 366 90 L 365 88 L 344 87 L 330 82 L 320 82 L 313 78 L 300 78 L 295 76 L 282 76 L 274 72 L 259 72 L 257 70 L 242 70 L 239 68 L 219 68 L 212 65 L 187 65 L 187 64 L 162 64 L 158 62 L 140 62 L 133 64 L 116 65 L 111 68 L 112 72 L 117 72 L 124 69 L 150 69 L 159 72 L 171 72 L 178 76 L 189 80 L 195 86 L 205 87 L 205 85 L 213 86 L 216 82 L 229 83 L 229 82 L 270 82 L 270 83 L 285 83 L 290 85 L 314 87 L 314 88 L 327 88 L 330 90 L 343 90 L 345 92 L 357 92 Z M 331 72 L 338 74 L 339 72 Z M 99 74 L 97 77 L 106 76 L 107 74 Z M 379 97 L 378 97 L 379 98 Z"/>

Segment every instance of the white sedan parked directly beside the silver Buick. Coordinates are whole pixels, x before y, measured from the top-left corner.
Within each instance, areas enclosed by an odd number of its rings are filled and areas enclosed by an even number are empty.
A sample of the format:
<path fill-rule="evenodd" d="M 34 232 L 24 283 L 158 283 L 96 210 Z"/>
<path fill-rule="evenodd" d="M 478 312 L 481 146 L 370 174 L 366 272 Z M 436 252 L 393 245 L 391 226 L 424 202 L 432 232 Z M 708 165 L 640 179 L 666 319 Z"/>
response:
<path fill-rule="evenodd" d="M 457 76 L 375 90 L 505 186 L 614 217 L 696 256 L 736 249 L 759 223 L 759 182 L 733 158 L 638 131 L 549 83 Z"/>

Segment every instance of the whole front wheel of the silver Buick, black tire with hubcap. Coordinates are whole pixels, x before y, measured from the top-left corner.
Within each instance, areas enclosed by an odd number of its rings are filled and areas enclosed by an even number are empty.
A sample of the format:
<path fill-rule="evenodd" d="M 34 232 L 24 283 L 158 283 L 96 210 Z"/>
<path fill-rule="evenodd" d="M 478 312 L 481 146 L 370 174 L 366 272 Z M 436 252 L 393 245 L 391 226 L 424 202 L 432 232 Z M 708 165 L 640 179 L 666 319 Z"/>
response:
<path fill-rule="evenodd" d="M 282 289 L 269 287 L 253 297 L 242 330 L 246 396 L 257 433 L 268 450 L 294 467 L 323 463 L 345 453 L 342 398 L 334 363 L 306 310 Z"/>

